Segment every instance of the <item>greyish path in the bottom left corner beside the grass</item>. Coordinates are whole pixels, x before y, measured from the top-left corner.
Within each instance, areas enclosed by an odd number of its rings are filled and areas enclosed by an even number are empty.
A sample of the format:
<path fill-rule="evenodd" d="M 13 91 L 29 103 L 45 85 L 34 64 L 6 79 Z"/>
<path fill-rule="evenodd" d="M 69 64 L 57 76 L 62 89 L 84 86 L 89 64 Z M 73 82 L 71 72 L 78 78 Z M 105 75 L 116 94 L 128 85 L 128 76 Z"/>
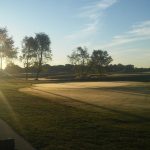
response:
<path fill-rule="evenodd" d="M 15 139 L 16 150 L 35 150 L 27 141 L 18 135 L 6 122 L 0 119 L 0 140 Z"/>

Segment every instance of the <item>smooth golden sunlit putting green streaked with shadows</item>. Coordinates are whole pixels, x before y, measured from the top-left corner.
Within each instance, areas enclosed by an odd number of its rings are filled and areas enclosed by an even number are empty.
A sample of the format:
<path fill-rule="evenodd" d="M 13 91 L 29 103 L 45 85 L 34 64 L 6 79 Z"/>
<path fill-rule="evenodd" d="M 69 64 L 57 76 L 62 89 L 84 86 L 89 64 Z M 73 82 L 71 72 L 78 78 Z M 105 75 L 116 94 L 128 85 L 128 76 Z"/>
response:
<path fill-rule="evenodd" d="M 149 86 L 148 83 L 136 82 L 47 83 L 34 84 L 32 88 L 25 88 L 21 91 L 47 99 L 52 97 L 65 99 L 65 105 L 73 106 L 76 102 L 80 102 L 85 105 L 91 104 L 93 107 L 105 106 L 133 111 L 150 108 L 149 93 L 139 90 L 139 87 L 143 89 L 147 86 Z M 150 92 L 148 89 L 147 91 Z"/>

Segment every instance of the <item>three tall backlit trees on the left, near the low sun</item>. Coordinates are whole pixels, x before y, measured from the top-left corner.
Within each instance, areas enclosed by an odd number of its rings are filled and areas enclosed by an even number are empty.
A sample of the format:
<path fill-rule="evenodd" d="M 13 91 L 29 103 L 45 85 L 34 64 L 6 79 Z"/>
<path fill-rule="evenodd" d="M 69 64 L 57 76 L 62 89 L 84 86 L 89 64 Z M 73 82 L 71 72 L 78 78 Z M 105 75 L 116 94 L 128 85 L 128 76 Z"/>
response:
<path fill-rule="evenodd" d="M 20 60 L 24 63 L 24 67 L 26 68 L 26 79 L 28 79 L 28 69 L 32 65 L 36 67 L 36 79 L 38 80 L 42 65 L 52 58 L 50 44 L 50 38 L 45 33 L 37 33 L 35 37 L 24 37 Z M 7 29 L 0 28 L 1 70 L 4 59 L 8 61 L 17 58 L 17 50 L 18 49 L 14 46 L 12 37 L 8 36 Z"/>

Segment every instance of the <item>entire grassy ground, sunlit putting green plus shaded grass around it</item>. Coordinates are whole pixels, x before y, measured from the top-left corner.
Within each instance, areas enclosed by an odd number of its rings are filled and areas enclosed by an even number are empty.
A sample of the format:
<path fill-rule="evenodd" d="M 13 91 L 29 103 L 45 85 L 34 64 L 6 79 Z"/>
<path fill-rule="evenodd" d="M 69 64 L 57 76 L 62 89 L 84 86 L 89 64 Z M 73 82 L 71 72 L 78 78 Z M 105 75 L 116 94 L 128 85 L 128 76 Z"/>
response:
<path fill-rule="evenodd" d="M 1 80 L 0 117 L 40 150 L 148 150 L 150 83 Z"/>

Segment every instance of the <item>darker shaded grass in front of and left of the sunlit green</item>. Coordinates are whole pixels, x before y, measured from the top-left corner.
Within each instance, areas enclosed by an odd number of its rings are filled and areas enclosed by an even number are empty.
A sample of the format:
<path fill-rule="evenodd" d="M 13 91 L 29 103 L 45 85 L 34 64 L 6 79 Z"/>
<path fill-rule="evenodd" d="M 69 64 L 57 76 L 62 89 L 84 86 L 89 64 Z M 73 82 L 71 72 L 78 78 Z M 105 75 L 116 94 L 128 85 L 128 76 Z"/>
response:
<path fill-rule="evenodd" d="M 0 118 L 37 149 L 150 148 L 150 109 L 133 110 L 134 115 L 127 111 L 122 113 L 119 108 L 94 111 L 92 107 L 87 110 L 60 104 L 61 98 L 46 100 L 18 92 L 19 88 L 30 85 L 23 81 L 0 80 Z"/>

